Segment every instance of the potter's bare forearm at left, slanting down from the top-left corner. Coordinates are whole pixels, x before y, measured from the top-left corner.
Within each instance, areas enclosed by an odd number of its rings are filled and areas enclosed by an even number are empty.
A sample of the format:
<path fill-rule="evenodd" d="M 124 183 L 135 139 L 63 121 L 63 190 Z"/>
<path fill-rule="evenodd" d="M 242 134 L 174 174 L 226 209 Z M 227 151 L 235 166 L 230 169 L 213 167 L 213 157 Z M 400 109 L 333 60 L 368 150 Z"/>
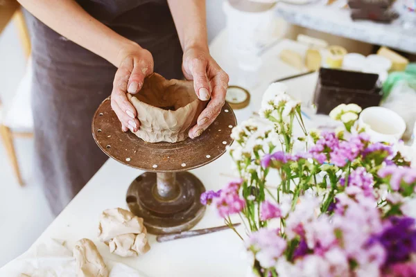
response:
<path fill-rule="evenodd" d="M 55 32 L 119 66 L 121 49 L 134 44 L 94 19 L 73 0 L 18 0 Z"/>

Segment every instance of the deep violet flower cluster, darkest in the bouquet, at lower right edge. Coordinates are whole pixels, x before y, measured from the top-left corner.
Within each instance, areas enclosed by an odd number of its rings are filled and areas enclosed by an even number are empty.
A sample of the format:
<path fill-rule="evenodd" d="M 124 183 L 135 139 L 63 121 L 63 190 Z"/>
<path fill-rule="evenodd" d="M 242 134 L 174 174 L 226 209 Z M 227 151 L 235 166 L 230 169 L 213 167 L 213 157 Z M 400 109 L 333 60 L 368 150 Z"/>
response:
<path fill-rule="evenodd" d="M 416 253 L 415 219 L 390 217 L 383 231 L 372 239 L 380 242 L 387 252 L 385 265 L 406 262 L 410 255 Z"/>

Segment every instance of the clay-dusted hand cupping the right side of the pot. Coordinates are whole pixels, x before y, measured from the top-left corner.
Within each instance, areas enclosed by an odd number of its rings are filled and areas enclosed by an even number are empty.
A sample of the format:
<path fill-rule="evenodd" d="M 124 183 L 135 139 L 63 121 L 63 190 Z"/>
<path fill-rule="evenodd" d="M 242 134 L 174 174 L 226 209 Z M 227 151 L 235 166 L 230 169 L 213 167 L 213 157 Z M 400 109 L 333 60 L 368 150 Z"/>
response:
<path fill-rule="evenodd" d="M 209 55 L 207 47 L 189 47 L 184 51 L 182 71 L 187 80 L 193 80 L 193 87 L 200 100 L 208 102 L 198 117 L 197 124 L 189 130 L 189 137 L 195 139 L 214 122 L 225 103 L 228 75 Z"/>

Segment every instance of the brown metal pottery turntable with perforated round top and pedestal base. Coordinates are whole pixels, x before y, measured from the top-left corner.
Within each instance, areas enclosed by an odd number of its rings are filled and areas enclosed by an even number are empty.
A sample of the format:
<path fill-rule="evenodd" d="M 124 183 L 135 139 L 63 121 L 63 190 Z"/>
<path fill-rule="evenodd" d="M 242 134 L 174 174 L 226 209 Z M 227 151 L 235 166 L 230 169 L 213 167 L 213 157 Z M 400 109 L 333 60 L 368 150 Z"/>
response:
<path fill-rule="evenodd" d="M 199 168 L 223 155 L 231 145 L 236 117 L 226 103 L 215 122 L 196 139 L 179 143 L 146 143 L 121 123 L 105 99 L 94 114 L 92 134 L 112 159 L 146 170 L 128 188 L 126 202 L 132 213 L 144 218 L 149 233 L 175 233 L 191 229 L 202 218 L 205 187 L 186 170 Z"/>

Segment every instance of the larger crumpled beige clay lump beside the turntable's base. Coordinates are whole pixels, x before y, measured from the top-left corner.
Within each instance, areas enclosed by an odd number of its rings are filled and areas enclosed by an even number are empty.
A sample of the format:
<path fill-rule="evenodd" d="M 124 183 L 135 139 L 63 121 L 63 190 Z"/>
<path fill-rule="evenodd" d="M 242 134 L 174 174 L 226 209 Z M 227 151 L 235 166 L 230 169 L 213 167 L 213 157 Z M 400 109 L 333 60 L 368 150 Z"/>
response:
<path fill-rule="evenodd" d="M 150 250 L 143 219 L 122 208 L 103 211 L 98 239 L 121 257 L 136 257 Z"/>

